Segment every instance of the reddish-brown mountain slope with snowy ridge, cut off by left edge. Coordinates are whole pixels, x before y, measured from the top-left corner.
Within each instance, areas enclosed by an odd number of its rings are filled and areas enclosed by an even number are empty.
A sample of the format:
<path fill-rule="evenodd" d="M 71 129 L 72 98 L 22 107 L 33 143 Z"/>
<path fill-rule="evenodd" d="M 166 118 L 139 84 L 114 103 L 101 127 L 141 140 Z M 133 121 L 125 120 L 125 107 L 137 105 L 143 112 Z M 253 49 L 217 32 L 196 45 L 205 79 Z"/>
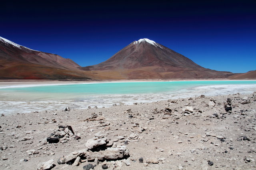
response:
<path fill-rule="evenodd" d="M 90 79 L 71 59 L 0 37 L 0 79 Z"/>

